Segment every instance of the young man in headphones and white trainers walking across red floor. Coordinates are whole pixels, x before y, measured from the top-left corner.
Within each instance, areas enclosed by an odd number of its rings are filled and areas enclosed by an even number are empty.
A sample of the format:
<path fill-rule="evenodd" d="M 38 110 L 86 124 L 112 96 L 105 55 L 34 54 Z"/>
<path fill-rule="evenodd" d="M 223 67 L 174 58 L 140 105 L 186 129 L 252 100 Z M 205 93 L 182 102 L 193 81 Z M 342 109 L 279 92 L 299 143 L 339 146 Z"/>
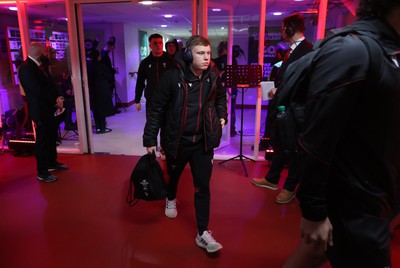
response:
<path fill-rule="evenodd" d="M 222 248 L 208 231 L 210 179 L 214 148 L 220 144 L 227 123 L 226 91 L 210 67 L 208 39 L 192 36 L 176 68 L 165 71 L 153 92 L 152 110 L 143 135 L 147 152 L 156 150 L 157 134 L 163 128 L 161 145 L 166 153 L 170 177 L 165 215 L 177 216 L 176 193 L 179 178 L 189 163 L 194 183 L 197 219 L 196 244 L 216 252 Z"/>

